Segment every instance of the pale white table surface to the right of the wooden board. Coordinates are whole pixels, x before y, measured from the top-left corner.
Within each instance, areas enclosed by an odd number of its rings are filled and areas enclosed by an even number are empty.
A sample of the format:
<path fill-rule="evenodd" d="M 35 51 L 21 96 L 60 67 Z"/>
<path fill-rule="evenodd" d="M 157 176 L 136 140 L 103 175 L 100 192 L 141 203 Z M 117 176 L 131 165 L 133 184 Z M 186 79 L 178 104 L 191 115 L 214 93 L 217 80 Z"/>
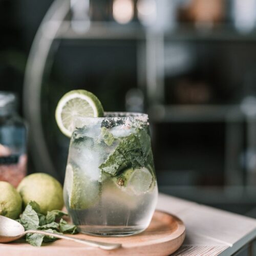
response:
<path fill-rule="evenodd" d="M 256 219 L 165 194 L 159 194 L 157 209 L 185 223 L 185 241 L 173 255 L 232 255 L 256 238 Z"/>

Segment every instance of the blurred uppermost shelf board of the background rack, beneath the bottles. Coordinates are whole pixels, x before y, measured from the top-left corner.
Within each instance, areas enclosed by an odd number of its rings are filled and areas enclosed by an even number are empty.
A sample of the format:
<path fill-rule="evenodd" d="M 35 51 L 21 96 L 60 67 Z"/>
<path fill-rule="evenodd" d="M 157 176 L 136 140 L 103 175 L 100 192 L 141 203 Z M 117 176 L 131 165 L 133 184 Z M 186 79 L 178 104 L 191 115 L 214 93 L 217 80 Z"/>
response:
<path fill-rule="evenodd" d="M 57 22 L 45 24 L 46 34 Z M 74 29 L 77 28 L 77 29 Z M 87 29 L 88 28 L 88 29 Z M 151 30 L 148 30 L 151 31 Z M 147 29 L 137 22 L 120 25 L 116 22 L 62 22 L 57 34 L 61 39 L 145 39 Z M 165 41 L 174 40 L 212 40 L 212 41 L 256 41 L 256 30 L 240 32 L 231 25 L 221 24 L 214 28 L 180 24 L 164 33 L 152 32 L 156 37 L 160 35 Z"/>

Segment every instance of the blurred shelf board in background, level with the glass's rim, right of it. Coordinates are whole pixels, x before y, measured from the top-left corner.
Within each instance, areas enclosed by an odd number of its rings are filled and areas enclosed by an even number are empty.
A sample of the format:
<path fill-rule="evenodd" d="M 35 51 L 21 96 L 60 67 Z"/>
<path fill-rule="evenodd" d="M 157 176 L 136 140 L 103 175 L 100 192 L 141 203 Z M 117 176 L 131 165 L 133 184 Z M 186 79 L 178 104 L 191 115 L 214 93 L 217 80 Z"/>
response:
<path fill-rule="evenodd" d="M 148 114 L 154 122 L 241 122 L 240 105 L 153 105 Z"/>

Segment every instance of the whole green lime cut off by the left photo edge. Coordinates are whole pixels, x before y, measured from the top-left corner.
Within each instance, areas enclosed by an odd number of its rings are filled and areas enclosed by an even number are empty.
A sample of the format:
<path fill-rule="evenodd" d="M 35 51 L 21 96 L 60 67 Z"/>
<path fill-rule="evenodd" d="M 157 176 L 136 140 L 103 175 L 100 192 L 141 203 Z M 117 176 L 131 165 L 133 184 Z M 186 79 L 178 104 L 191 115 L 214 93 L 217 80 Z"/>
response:
<path fill-rule="evenodd" d="M 17 219 L 22 211 L 22 198 L 8 182 L 0 181 L 0 215 Z"/>

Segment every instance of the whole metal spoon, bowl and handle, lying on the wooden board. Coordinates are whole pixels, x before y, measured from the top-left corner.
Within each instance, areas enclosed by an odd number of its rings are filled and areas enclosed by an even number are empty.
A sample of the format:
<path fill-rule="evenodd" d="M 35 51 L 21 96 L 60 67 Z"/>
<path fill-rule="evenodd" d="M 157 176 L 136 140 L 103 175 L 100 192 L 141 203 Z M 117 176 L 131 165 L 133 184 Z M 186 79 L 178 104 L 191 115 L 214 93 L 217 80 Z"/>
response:
<path fill-rule="evenodd" d="M 62 234 L 54 234 L 54 233 L 41 231 L 41 230 L 25 231 L 22 224 L 18 223 L 17 221 L 14 221 L 12 219 L 9 219 L 7 217 L 0 216 L 0 243 L 8 243 L 8 242 L 15 241 L 19 238 L 24 237 L 25 234 L 27 234 L 27 233 L 46 234 L 47 236 L 60 238 L 60 239 L 66 239 L 66 240 L 74 241 L 77 243 L 98 247 L 98 248 L 104 249 L 104 250 L 112 250 L 112 249 L 116 249 L 121 246 L 121 244 L 111 244 L 111 243 L 90 241 L 90 240 L 85 240 L 85 239 L 78 239 L 78 238 L 73 238 L 70 236 L 63 236 Z"/>

